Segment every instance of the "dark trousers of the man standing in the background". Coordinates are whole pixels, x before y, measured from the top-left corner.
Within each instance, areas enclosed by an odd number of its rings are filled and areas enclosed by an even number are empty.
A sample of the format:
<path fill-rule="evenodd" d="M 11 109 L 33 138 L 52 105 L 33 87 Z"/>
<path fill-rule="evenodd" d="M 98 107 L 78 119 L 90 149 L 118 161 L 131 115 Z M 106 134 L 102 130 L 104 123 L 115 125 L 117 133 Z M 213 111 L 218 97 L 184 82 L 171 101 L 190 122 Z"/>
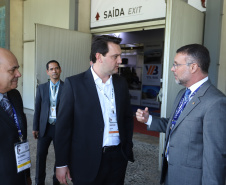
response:
<path fill-rule="evenodd" d="M 45 185 L 45 177 L 46 177 L 46 158 L 48 155 L 48 149 L 50 143 L 53 141 L 53 146 L 55 146 L 55 126 L 47 124 L 46 132 L 43 137 L 38 138 L 37 142 L 37 155 L 36 155 L 36 175 L 35 175 L 35 183 L 37 185 Z M 54 175 L 53 175 L 53 185 L 59 184 L 56 179 L 55 174 L 56 168 L 54 165 Z"/>

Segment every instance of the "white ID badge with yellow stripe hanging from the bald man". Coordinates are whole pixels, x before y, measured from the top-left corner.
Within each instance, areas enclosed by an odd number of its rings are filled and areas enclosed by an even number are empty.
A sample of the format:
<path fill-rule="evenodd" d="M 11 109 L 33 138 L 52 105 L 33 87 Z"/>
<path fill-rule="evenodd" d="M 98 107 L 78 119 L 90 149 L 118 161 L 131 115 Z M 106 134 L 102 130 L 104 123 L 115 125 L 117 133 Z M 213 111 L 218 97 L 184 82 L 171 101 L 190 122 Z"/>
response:
<path fill-rule="evenodd" d="M 31 167 L 30 147 L 28 141 L 14 144 L 17 173 Z"/>

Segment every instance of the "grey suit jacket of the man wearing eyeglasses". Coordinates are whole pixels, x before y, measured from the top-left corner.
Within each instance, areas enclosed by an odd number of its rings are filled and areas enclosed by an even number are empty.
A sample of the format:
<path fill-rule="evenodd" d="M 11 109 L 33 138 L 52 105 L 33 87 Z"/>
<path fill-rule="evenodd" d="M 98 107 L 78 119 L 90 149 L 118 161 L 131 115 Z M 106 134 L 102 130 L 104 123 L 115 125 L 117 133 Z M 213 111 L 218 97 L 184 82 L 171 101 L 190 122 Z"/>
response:
<path fill-rule="evenodd" d="M 178 93 L 169 119 L 153 117 L 150 129 L 166 132 L 185 89 Z M 166 161 L 163 161 L 164 181 Z M 168 161 L 169 184 L 225 185 L 226 97 L 210 81 L 187 104 L 172 130 Z"/>

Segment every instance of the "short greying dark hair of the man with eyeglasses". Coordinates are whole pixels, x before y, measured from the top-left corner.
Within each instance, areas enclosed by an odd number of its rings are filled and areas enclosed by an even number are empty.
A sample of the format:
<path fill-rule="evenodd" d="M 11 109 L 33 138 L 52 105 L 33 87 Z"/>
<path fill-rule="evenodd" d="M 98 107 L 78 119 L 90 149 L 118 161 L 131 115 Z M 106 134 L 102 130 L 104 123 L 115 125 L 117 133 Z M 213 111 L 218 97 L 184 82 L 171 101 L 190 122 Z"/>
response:
<path fill-rule="evenodd" d="M 192 58 L 192 62 L 199 65 L 203 73 L 208 73 L 210 54 L 205 46 L 200 44 L 189 44 L 179 48 L 177 53 L 187 54 L 189 58 Z"/>

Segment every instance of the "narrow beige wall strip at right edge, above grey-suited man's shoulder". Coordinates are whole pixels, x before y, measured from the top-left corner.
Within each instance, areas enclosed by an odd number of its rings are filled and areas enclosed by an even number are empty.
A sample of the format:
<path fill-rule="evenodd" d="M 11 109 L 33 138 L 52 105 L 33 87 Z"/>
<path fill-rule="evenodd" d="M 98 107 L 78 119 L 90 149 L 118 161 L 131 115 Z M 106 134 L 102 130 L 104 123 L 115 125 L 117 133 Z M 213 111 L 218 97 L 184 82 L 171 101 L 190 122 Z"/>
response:
<path fill-rule="evenodd" d="M 226 1 L 224 1 L 221 29 L 220 61 L 218 73 L 218 89 L 226 94 Z"/>

